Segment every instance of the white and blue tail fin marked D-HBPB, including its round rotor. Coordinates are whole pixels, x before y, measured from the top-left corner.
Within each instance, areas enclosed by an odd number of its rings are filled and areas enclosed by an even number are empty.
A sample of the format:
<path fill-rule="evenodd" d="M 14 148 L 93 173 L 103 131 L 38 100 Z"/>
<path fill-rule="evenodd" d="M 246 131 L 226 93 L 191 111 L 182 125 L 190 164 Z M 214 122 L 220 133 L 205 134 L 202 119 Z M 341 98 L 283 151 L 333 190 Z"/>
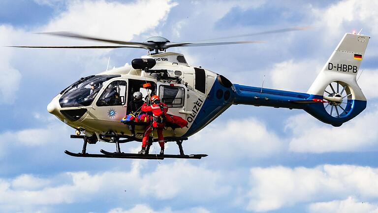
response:
<path fill-rule="evenodd" d="M 311 98 L 327 103 L 310 105 L 307 112 L 325 123 L 341 126 L 366 108 L 356 76 L 369 39 L 345 34 L 307 92 Z"/>

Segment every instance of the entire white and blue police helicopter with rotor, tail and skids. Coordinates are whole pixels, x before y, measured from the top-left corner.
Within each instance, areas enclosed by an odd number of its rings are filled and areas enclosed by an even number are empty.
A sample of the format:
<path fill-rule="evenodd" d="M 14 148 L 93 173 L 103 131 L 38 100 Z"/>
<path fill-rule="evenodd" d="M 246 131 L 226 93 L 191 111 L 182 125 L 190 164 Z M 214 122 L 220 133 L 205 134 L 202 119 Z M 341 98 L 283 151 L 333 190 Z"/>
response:
<path fill-rule="evenodd" d="M 288 28 L 257 34 L 282 33 L 302 30 Z M 245 44 L 260 41 L 229 42 L 170 42 L 161 36 L 148 38 L 144 42 L 120 41 L 68 32 L 47 33 L 114 43 L 107 46 L 13 46 L 27 48 L 144 48 L 148 54 L 134 59 L 131 65 L 106 70 L 95 75 L 82 77 L 63 89 L 53 98 L 47 110 L 76 131 L 71 138 L 83 139 L 82 152 L 65 153 L 76 157 L 164 159 L 200 159 L 206 154 L 184 154 L 182 143 L 216 119 L 231 105 L 272 106 L 289 109 L 303 109 L 318 120 L 341 126 L 366 108 L 366 98 L 356 81 L 361 61 L 365 54 L 369 36 L 347 33 L 343 36 L 324 67 L 306 93 L 252 87 L 234 84 L 214 71 L 188 64 L 183 54 L 166 52 L 179 46 L 210 46 Z M 230 36 L 233 38 L 242 36 Z M 147 87 L 145 85 L 148 85 Z M 109 95 L 109 91 L 113 95 Z M 121 151 L 120 143 L 141 142 L 145 127 L 135 126 L 135 135 L 120 122 L 129 113 L 127 103 L 132 94 L 141 92 L 144 96 L 158 95 L 165 103 L 168 113 L 187 121 L 183 128 L 166 127 L 165 142 L 176 142 L 180 154 L 153 155 L 134 154 Z M 116 94 L 116 95 L 114 95 Z M 314 133 L 315 134 L 315 133 Z M 149 146 L 157 141 L 153 131 Z M 87 144 L 96 142 L 116 144 L 115 152 L 100 150 L 101 154 L 87 153 Z M 147 147 L 147 152 L 149 149 Z"/>

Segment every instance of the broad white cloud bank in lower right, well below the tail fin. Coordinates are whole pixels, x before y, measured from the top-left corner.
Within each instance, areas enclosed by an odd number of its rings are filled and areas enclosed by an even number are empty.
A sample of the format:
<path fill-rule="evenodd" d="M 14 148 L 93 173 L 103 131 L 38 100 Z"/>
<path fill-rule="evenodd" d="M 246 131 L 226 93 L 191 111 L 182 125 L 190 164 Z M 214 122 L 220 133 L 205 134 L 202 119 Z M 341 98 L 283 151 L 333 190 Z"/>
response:
<path fill-rule="evenodd" d="M 252 168 L 248 210 L 266 212 L 345 195 L 378 198 L 378 169 L 352 165 Z"/>

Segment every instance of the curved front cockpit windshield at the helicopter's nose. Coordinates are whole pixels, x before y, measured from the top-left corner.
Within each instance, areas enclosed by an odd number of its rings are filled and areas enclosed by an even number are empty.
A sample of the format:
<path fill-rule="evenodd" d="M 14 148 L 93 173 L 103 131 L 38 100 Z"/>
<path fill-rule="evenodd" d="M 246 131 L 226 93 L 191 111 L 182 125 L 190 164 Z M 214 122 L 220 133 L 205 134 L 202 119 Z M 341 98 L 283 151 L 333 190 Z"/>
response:
<path fill-rule="evenodd" d="M 61 107 L 90 106 L 105 81 L 121 75 L 91 75 L 63 90 L 59 99 Z"/>

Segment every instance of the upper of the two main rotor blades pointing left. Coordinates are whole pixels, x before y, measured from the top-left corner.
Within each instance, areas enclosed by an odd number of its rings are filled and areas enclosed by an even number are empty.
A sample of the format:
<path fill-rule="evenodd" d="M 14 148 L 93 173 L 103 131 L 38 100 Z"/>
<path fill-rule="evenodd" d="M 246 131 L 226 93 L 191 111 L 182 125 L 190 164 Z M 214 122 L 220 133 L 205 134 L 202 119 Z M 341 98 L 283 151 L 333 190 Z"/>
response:
<path fill-rule="evenodd" d="M 84 35 L 71 33 L 71 32 L 46 32 L 46 33 L 38 33 L 38 34 L 46 34 L 46 35 L 62 36 L 62 37 L 73 37 L 73 38 L 103 41 L 103 42 L 116 43 L 116 44 L 138 45 L 145 49 L 147 48 L 153 49 L 155 47 L 154 43 L 111 40 L 111 39 L 99 38 L 99 37 L 93 37 L 93 36 L 84 36 Z"/>

